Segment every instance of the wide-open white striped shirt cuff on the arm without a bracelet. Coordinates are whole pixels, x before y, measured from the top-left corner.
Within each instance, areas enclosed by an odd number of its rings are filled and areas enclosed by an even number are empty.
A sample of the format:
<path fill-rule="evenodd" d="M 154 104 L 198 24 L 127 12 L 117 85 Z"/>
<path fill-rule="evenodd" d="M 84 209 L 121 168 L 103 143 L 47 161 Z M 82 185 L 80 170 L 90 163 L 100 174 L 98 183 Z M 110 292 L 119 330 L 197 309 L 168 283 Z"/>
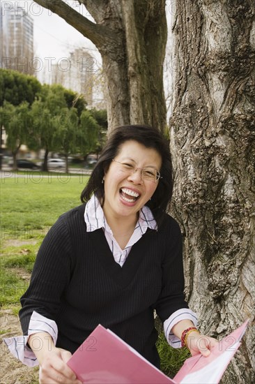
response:
<path fill-rule="evenodd" d="M 56 346 L 56 339 L 58 337 L 58 327 L 56 326 L 56 323 L 54 320 L 45 318 L 45 316 L 40 315 L 40 313 L 37 313 L 36 311 L 33 311 L 30 318 L 27 336 L 8 337 L 3 339 L 6 346 L 8 346 L 10 353 L 28 367 L 36 367 L 36 365 L 38 365 L 36 355 L 27 345 L 29 336 L 38 332 L 47 332 L 50 337 L 52 337 L 54 345 Z M 33 348 L 40 350 L 42 347 L 40 338 L 38 337 L 38 340 L 35 339 L 33 342 L 35 344 Z"/>

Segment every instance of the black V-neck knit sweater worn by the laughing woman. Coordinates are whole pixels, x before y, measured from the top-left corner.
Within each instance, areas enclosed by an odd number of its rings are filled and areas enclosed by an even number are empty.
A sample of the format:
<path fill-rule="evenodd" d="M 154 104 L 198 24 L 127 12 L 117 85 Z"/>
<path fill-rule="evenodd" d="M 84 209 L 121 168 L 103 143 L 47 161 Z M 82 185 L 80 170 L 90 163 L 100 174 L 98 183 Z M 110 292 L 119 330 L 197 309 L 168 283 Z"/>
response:
<path fill-rule="evenodd" d="M 56 321 L 56 346 L 74 353 L 101 324 L 159 367 L 153 309 L 164 322 L 187 308 L 178 223 L 165 214 L 160 229 L 148 229 L 121 267 L 102 228 L 86 232 L 84 209 L 63 214 L 43 240 L 21 298 L 22 330 L 27 334 L 37 311 Z"/>

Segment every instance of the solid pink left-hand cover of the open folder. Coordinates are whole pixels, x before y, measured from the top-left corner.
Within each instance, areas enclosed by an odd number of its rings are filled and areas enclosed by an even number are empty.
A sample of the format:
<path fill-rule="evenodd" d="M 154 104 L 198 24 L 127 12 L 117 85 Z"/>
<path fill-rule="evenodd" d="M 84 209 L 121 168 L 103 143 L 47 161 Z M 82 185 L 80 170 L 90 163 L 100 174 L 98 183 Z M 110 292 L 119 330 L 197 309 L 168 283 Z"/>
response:
<path fill-rule="evenodd" d="M 82 383 L 168 384 L 171 378 L 110 330 L 98 325 L 68 361 Z"/>

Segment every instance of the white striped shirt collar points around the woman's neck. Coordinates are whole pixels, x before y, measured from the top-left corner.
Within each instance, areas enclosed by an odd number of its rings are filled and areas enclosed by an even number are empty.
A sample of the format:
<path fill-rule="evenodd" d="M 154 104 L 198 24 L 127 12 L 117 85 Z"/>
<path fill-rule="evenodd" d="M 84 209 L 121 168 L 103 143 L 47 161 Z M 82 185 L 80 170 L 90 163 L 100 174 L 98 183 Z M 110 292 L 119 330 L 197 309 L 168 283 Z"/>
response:
<path fill-rule="evenodd" d="M 99 228 L 104 228 L 108 232 L 111 232 L 111 228 L 109 228 L 105 219 L 104 211 L 102 210 L 100 202 L 95 195 L 92 195 L 91 199 L 86 203 L 84 220 L 87 232 L 93 232 Z M 139 212 L 139 219 L 137 221 L 136 228 L 138 227 L 140 228 L 142 235 L 144 235 L 148 228 L 157 230 L 157 222 L 155 221 L 150 208 L 146 205 L 144 205 Z"/>

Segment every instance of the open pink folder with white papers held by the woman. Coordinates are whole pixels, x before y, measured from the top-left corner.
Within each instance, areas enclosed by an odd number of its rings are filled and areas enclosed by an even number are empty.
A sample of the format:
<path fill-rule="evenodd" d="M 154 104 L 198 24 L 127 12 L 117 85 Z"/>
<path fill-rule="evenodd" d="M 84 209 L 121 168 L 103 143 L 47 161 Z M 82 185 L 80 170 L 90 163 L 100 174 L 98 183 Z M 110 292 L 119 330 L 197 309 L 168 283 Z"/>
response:
<path fill-rule="evenodd" d="M 82 383 L 88 384 L 215 384 L 238 350 L 247 325 L 248 320 L 219 341 L 208 357 L 187 359 L 173 380 L 102 325 L 77 349 L 68 365 Z"/>

